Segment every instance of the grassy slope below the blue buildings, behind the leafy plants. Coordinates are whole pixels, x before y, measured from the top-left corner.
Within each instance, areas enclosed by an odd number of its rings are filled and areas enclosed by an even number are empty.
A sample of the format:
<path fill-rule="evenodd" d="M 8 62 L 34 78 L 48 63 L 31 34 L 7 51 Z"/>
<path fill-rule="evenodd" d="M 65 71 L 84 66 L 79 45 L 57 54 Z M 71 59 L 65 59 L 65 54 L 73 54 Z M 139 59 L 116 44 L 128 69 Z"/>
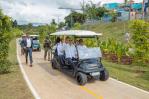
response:
<path fill-rule="evenodd" d="M 102 33 L 101 40 L 114 38 L 118 41 L 124 41 L 124 35 L 129 32 L 129 22 L 115 22 L 115 23 L 99 23 L 95 25 L 83 25 L 83 29 L 91 30 L 97 33 Z"/>

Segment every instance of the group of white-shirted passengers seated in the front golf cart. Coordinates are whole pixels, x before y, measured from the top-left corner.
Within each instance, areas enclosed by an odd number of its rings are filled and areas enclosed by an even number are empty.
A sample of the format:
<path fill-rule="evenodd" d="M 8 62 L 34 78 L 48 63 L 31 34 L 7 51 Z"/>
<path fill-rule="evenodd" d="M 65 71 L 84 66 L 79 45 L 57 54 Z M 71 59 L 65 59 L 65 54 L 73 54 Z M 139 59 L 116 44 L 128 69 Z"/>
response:
<path fill-rule="evenodd" d="M 65 41 L 58 37 L 54 46 L 54 51 L 59 57 L 61 64 L 64 64 L 65 60 L 75 69 L 75 64 L 73 61 L 78 59 L 77 51 L 78 49 L 85 47 L 86 46 L 83 44 L 82 39 L 73 42 L 73 40 L 69 37 L 66 37 Z"/>

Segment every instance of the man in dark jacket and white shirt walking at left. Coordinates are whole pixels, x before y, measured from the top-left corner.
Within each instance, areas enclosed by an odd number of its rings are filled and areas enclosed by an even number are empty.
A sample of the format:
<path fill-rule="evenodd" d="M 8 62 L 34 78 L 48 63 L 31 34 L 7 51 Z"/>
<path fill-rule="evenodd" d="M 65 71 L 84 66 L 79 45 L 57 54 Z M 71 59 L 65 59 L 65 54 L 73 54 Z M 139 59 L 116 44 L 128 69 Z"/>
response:
<path fill-rule="evenodd" d="M 25 46 L 25 58 L 26 58 L 26 64 L 28 64 L 28 56 L 30 60 L 30 67 L 32 67 L 33 58 L 32 58 L 32 45 L 33 40 L 32 38 L 26 34 L 26 38 L 24 40 L 24 46 Z"/>

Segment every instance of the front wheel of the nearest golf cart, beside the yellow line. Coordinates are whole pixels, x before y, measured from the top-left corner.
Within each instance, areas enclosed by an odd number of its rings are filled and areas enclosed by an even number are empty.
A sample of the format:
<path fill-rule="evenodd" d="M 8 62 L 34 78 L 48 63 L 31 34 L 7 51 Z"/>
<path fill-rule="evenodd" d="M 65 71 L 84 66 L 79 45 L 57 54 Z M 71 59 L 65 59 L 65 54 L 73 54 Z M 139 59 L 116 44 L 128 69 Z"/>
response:
<path fill-rule="evenodd" d="M 81 72 L 76 75 L 76 80 L 79 85 L 85 85 L 87 83 L 87 76 Z"/>

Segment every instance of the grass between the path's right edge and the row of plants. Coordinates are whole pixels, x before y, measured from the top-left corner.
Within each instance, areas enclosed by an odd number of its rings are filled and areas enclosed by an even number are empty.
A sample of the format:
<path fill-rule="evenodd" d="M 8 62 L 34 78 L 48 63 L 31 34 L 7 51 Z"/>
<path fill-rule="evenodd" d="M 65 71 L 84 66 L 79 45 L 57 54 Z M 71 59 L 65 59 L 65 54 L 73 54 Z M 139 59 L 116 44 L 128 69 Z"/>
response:
<path fill-rule="evenodd" d="M 111 77 L 149 91 L 149 65 L 121 65 L 107 61 L 103 61 L 103 64 Z"/>

